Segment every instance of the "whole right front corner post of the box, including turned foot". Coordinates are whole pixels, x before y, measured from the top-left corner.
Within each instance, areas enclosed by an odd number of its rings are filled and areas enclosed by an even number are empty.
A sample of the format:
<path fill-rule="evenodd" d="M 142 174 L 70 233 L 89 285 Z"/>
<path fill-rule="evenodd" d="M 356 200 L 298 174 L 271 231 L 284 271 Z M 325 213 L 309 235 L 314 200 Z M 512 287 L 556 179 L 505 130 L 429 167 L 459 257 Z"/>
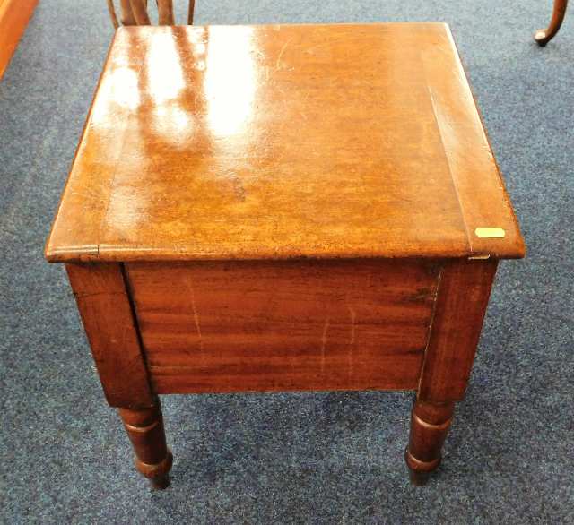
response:
<path fill-rule="evenodd" d="M 465 396 L 497 265 L 495 259 L 455 259 L 440 273 L 405 453 L 415 485 L 439 467 L 455 402 Z"/>

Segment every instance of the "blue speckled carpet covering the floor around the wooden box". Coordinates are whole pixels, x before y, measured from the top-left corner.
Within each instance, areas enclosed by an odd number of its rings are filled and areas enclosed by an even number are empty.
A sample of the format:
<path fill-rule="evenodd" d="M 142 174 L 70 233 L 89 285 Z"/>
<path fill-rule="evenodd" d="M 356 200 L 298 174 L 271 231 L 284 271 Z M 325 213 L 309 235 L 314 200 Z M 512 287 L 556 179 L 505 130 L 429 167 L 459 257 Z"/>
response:
<path fill-rule="evenodd" d="M 0 520 L 573 523 L 570 11 L 541 49 L 531 34 L 550 0 L 199 2 L 197 23 L 448 22 L 529 253 L 500 265 L 429 486 L 407 483 L 402 457 L 412 394 L 172 396 L 172 487 L 152 493 L 103 400 L 64 270 L 42 258 L 112 31 L 103 0 L 42 0 L 0 83 Z"/>

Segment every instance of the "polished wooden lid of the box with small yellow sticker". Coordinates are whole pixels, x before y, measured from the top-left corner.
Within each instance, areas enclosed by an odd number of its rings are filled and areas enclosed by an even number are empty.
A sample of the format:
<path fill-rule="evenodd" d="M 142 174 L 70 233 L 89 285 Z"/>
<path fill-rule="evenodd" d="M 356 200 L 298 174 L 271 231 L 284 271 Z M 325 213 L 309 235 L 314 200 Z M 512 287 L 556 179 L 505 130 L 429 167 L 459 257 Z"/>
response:
<path fill-rule="evenodd" d="M 524 245 L 448 26 L 138 27 L 117 31 L 46 254 L 519 257 Z"/>

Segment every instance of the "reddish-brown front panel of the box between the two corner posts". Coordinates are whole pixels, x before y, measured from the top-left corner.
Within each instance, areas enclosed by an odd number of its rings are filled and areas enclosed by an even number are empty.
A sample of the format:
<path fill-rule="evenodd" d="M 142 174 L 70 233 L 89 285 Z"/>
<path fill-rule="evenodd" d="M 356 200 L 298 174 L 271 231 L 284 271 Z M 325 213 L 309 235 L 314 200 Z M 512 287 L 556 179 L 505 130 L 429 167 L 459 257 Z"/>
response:
<path fill-rule="evenodd" d="M 155 392 L 414 389 L 439 265 L 128 263 Z"/>

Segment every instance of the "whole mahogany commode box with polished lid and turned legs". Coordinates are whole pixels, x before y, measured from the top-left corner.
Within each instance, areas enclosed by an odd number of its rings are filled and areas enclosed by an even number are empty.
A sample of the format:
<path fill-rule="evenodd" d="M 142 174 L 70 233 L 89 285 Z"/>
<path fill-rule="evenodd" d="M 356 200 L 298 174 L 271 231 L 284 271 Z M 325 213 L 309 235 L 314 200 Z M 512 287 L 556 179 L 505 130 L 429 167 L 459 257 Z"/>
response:
<path fill-rule="evenodd" d="M 118 30 L 46 256 L 162 487 L 186 392 L 413 390 L 424 482 L 524 250 L 448 26 L 404 23 Z"/>

